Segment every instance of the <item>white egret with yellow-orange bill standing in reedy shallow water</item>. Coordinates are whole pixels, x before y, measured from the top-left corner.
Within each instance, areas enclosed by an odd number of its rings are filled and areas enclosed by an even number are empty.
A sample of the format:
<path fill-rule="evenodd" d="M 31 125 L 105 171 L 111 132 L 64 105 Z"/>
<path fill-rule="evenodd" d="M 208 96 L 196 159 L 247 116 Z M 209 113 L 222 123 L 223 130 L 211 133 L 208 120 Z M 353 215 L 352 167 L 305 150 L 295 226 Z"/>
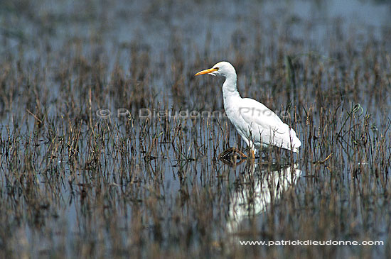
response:
<path fill-rule="evenodd" d="M 277 114 L 259 101 L 240 97 L 236 88 L 236 71 L 230 62 L 218 62 L 212 68 L 195 75 L 204 74 L 225 77 L 223 84 L 225 113 L 249 146 L 252 158 L 257 149 L 262 146 L 274 145 L 295 153 L 299 151 L 301 146 L 299 138 Z"/>

